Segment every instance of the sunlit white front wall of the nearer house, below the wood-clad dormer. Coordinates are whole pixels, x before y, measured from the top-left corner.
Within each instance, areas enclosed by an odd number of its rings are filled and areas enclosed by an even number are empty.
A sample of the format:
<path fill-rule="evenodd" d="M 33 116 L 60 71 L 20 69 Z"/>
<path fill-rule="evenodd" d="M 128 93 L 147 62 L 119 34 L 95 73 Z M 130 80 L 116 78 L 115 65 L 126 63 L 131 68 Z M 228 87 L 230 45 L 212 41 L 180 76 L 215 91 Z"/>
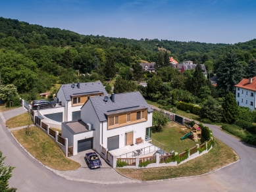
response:
<path fill-rule="evenodd" d="M 125 147 L 125 133 L 127 132 L 134 132 L 134 144 L 138 137 L 145 139 L 146 128 L 152 126 L 152 115 L 153 112 L 147 114 L 146 122 L 140 122 L 138 124 L 132 124 L 111 130 L 107 130 L 107 122 L 105 122 L 103 124 L 103 147 L 107 148 L 107 137 L 113 137 L 115 135 L 119 135 L 119 148 Z"/>

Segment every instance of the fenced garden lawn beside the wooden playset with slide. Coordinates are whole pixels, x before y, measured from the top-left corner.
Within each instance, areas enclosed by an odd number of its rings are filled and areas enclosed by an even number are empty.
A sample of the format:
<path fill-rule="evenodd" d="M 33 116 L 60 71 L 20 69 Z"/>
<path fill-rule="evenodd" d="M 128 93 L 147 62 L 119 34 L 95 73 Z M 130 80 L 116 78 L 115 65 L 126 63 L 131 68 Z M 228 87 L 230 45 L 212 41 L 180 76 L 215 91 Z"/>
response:
<path fill-rule="evenodd" d="M 166 153 L 169 153 L 170 151 L 182 153 L 186 149 L 195 147 L 195 144 L 200 144 L 200 140 L 198 142 L 195 142 L 193 141 L 193 139 L 190 139 L 188 137 L 183 140 L 180 139 L 182 136 L 189 132 L 190 130 L 186 129 L 185 126 L 176 124 L 175 122 L 169 122 L 165 126 L 165 128 L 162 128 L 158 131 L 153 130 L 151 133 L 151 137 L 165 145 Z"/>

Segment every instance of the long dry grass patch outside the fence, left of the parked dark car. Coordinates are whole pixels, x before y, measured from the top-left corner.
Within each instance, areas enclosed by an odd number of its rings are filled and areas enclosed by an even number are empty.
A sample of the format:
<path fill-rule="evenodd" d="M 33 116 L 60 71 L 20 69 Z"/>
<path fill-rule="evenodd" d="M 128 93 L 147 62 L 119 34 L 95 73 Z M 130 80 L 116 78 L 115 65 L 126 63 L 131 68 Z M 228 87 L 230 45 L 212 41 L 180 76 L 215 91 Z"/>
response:
<path fill-rule="evenodd" d="M 59 146 L 42 130 L 33 126 L 31 135 L 26 134 L 26 129 L 13 131 L 14 137 L 26 150 L 41 163 L 55 170 L 67 171 L 80 168 L 80 164 L 66 158 Z"/>

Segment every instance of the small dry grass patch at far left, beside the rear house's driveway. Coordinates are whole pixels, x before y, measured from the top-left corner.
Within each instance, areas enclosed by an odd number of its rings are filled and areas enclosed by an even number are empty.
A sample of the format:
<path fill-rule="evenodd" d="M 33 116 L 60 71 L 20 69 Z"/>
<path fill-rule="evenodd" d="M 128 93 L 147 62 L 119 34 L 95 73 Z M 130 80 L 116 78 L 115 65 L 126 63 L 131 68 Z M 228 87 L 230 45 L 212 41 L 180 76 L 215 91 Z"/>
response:
<path fill-rule="evenodd" d="M 30 114 L 28 112 L 24 112 L 23 114 L 10 118 L 5 124 L 9 129 L 11 129 L 21 126 L 28 126 L 34 124 L 34 122 L 32 121 Z"/>

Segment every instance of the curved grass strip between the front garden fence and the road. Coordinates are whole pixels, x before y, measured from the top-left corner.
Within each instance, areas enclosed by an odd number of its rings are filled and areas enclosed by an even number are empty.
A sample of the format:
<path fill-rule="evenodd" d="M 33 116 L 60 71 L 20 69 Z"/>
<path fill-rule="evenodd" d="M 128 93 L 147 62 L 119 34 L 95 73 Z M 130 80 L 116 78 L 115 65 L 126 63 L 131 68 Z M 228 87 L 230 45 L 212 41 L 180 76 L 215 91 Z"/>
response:
<path fill-rule="evenodd" d="M 140 170 L 117 168 L 118 172 L 134 178 L 136 180 L 166 180 L 169 178 L 180 178 L 188 176 L 198 176 L 217 170 L 238 160 L 238 155 L 234 151 L 215 139 L 215 145 L 209 153 L 189 160 L 178 166 L 168 166 L 163 168 L 146 168 Z"/>

